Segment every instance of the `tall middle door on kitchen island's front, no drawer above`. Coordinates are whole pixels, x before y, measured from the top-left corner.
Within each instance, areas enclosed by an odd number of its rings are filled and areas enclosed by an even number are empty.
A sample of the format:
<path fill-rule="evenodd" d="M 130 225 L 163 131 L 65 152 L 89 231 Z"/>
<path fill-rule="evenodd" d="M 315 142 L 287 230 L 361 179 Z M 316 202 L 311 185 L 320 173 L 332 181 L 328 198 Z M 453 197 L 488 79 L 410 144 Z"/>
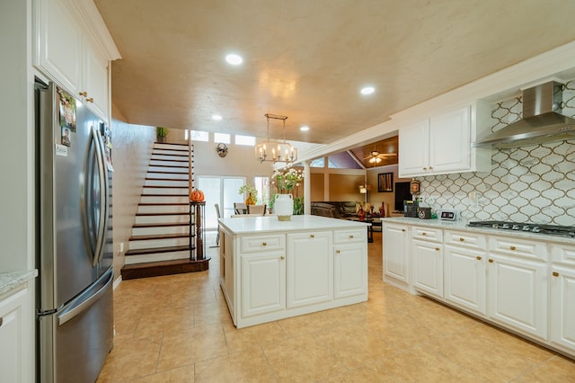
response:
<path fill-rule="evenodd" d="M 333 298 L 332 232 L 288 234 L 288 308 Z"/>

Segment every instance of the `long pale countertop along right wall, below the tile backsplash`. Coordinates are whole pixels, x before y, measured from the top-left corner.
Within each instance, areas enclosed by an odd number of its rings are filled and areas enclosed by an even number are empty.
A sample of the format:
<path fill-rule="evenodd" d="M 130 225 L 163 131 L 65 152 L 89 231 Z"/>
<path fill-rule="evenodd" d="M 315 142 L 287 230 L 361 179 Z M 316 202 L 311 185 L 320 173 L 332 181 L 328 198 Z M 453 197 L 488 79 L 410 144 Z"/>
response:
<path fill-rule="evenodd" d="M 545 234 L 529 233 L 518 230 L 502 230 L 490 227 L 468 227 L 467 221 L 460 219 L 456 221 L 445 221 L 441 219 L 420 219 L 409 217 L 383 218 L 384 223 L 394 222 L 413 226 L 438 227 L 453 230 L 470 231 L 473 233 L 482 233 L 485 236 L 513 236 L 531 240 L 540 240 L 544 242 L 553 242 L 557 244 L 575 245 L 575 238 L 569 236 L 549 236 Z"/>

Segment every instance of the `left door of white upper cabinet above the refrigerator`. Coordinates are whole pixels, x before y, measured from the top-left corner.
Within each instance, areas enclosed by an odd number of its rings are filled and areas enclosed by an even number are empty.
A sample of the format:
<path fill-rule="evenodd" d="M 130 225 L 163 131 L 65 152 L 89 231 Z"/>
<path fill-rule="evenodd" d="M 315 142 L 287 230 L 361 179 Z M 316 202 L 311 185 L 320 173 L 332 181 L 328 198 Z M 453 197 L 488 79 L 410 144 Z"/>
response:
<path fill-rule="evenodd" d="M 82 33 L 61 0 L 36 1 L 34 65 L 77 97 L 82 80 Z"/>

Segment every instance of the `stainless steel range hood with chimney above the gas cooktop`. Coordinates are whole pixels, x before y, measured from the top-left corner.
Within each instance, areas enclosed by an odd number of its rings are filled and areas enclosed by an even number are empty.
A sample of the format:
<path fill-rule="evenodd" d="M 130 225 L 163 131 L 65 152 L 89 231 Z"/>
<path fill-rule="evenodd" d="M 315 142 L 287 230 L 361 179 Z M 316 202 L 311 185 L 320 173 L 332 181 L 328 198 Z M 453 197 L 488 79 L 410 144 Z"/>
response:
<path fill-rule="evenodd" d="M 549 82 L 523 91 L 523 119 L 510 123 L 472 147 L 524 147 L 575 139 L 575 119 L 561 114 L 562 85 Z"/>

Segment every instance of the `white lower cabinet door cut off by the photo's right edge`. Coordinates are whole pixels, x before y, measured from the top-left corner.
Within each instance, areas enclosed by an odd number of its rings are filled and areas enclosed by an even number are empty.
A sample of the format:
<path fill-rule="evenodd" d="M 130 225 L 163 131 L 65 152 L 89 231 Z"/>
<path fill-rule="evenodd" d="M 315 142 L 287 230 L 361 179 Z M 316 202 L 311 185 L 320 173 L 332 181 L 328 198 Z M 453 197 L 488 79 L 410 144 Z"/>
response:
<path fill-rule="evenodd" d="M 575 269 L 552 266 L 551 341 L 575 352 Z"/>

